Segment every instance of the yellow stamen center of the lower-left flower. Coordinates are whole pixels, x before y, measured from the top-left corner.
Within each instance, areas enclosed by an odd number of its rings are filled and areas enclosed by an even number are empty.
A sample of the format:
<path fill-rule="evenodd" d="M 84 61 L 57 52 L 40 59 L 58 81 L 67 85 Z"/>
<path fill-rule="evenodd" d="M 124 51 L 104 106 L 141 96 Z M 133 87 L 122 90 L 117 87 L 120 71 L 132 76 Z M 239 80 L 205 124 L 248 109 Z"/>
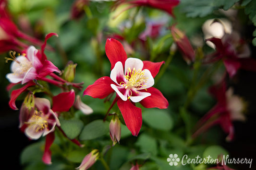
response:
<path fill-rule="evenodd" d="M 42 111 L 35 111 L 27 123 L 29 126 L 33 126 L 36 132 L 48 127 L 47 117 L 43 115 Z"/>

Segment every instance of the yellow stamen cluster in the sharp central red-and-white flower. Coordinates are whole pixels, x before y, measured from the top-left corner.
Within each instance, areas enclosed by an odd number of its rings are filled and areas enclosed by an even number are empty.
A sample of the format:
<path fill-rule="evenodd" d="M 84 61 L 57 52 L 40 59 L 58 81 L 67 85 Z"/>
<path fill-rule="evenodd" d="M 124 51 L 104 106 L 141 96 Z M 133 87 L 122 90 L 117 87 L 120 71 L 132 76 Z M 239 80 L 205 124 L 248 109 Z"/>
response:
<path fill-rule="evenodd" d="M 123 84 L 123 86 L 125 86 L 125 89 L 129 88 L 129 89 L 135 89 L 135 90 L 139 90 L 139 89 L 145 89 L 143 87 L 146 87 L 146 85 L 144 85 L 147 81 L 148 78 L 145 77 L 145 71 L 141 70 L 141 69 L 131 69 L 128 68 L 127 69 L 127 75 L 124 76 L 125 79 L 127 79 L 128 81 Z"/>

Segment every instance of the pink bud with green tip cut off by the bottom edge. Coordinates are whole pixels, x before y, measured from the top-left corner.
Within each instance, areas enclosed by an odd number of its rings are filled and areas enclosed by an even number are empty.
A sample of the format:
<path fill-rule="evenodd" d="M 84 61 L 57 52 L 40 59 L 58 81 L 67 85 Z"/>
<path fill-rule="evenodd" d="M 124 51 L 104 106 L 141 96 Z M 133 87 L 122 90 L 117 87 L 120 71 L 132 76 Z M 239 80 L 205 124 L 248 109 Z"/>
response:
<path fill-rule="evenodd" d="M 79 167 L 77 167 L 76 169 L 77 170 L 87 170 L 88 168 L 90 168 L 96 162 L 96 160 L 98 158 L 99 158 L 98 149 L 94 149 L 89 154 L 87 154 L 85 156 L 81 165 Z"/>

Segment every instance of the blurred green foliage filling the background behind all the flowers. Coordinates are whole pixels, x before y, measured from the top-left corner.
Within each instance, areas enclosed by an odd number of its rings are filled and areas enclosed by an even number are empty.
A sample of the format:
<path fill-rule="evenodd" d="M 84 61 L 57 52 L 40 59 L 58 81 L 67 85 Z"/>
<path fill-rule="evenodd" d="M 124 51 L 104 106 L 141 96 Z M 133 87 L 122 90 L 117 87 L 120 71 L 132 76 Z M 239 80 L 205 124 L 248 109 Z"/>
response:
<path fill-rule="evenodd" d="M 110 62 L 105 55 L 105 43 L 109 37 L 116 35 L 122 37 L 122 45 L 128 57 L 138 57 L 142 60 L 154 62 L 165 61 L 165 69 L 156 77 L 154 87 L 158 88 L 169 101 L 169 108 L 165 110 L 142 108 L 143 125 L 139 136 L 134 137 L 122 120 L 122 137 L 120 144 L 111 145 L 109 136 L 109 120 L 105 123 L 97 122 L 102 119 L 111 102 L 93 99 L 84 96 L 83 102 L 89 105 L 94 113 L 84 116 L 80 111 L 75 113 L 72 121 L 60 119 L 63 130 L 67 136 L 78 137 L 85 144 L 78 148 L 65 141 L 61 135 L 56 136 L 51 147 L 53 164 L 44 165 L 41 161 L 43 154 L 44 138 L 39 141 L 28 140 L 18 129 L 19 111 L 12 111 L 8 106 L 9 94 L 5 90 L 8 80 L 5 75 L 10 72 L 10 64 L 4 59 L 0 62 L 0 87 L 1 87 L 1 154 L 4 167 L 24 170 L 73 170 L 78 167 L 83 158 L 93 148 L 104 153 L 104 158 L 110 170 L 129 170 L 132 163 L 136 162 L 141 170 L 206 170 L 216 165 L 193 165 L 171 167 L 166 159 L 171 153 L 179 156 L 187 154 L 193 158 L 211 155 L 217 157 L 220 153 L 229 153 L 231 157 L 255 157 L 255 84 L 256 74 L 241 70 L 229 81 L 239 94 L 248 102 L 247 121 L 235 122 L 235 139 L 226 142 L 226 134 L 219 126 L 214 126 L 202 136 L 191 141 L 196 122 L 209 111 L 216 103 L 207 89 L 214 83 L 209 79 L 195 94 L 194 99 L 187 109 L 182 106 L 187 99 L 187 93 L 193 80 L 195 69 L 188 65 L 177 51 L 170 57 L 170 47 L 173 44 L 169 26 L 176 26 L 183 30 L 196 48 L 196 41 L 202 44 L 200 48 L 204 54 L 213 52 L 203 39 L 202 24 L 207 19 L 229 18 L 234 29 L 237 29 L 245 41 L 249 43 L 252 57 L 255 57 L 253 41 L 254 25 L 256 24 L 256 0 L 181 0 L 174 8 L 175 18 L 164 11 L 152 8 L 137 7 L 127 11 L 117 9 L 111 11 L 112 1 L 90 1 L 83 11 L 83 16 L 78 19 L 71 18 L 73 0 L 8 0 L 9 10 L 13 21 L 19 29 L 38 39 L 50 32 L 57 33 L 59 37 L 52 37 L 48 43 L 55 49 L 47 51 L 46 55 L 58 68 L 64 69 L 69 60 L 77 63 L 74 82 L 84 82 L 84 89 L 102 76 L 110 75 Z M 123 9 L 125 7 L 122 7 Z M 237 18 L 230 18 L 226 10 L 238 12 Z M 225 10 L 225 11 L 224 11 Z M 163 22 L 163 28 L 156 38 L 146 37 L 141 41 L 138 37 L 146 29 L 148 22 Z M 195 40 L 195 41 L 194 41 Z M 255 39 L 254 39 L 255 41 Z M 195 43 L 193 43 L 195 42 Z M 197 41 L 198 43 L 198 41 Z M 129 49 L 129 51 L 128 51 Z M 2 58 L 8 54 L 1 54 Z M 168 62 L 170 61 L 170 62 Z M 198 78 L 206 71 L 207 66 L 200 66 Z M 220 66 L 223 74 L 224 66 Z M 78 94 L 82 96 L 82 92 Z M 53 93 L 58 94 L 58 89 Z M 21 102 L 17 102 L 21 105 Z M 113 110 L 118 110 L 113 108 Z M 60 132 L 56 132 L 57 134 Z M 255 166 L 255 165 L 254 165 Z M 247 165 L 230 165 L 234 169 L 246 170 Z M 255 168 L 255 167 L 254 167 Z M 91 168 L 102 170 L 100 161 Z"/>

